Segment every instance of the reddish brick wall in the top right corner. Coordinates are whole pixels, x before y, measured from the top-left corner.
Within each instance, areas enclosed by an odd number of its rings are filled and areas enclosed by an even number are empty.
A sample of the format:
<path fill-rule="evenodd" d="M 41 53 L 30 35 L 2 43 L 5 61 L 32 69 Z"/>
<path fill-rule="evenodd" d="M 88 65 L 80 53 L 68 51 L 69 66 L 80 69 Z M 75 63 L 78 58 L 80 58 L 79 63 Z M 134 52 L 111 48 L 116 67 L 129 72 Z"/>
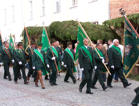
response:
<path fill-rule="evenodd" d="M 139 13 L 139 0 L 110 0 L 111 19 L 121 17 L 120 8 L 123 8 L 126 14 Z"/>

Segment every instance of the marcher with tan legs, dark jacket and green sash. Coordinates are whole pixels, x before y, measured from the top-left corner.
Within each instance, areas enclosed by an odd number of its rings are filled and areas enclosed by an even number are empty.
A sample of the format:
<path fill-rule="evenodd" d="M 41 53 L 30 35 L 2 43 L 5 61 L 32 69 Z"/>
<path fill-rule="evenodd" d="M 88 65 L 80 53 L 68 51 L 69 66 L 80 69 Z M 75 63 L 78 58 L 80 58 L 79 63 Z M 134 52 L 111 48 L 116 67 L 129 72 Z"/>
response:
<path fill-rule="evenodd" d="M 42 79 L 42 72 L 46 70 L 41 48 L 42 44 L 38 44 L 38 48 L 34 49 L 34 53 L 32 56 L 32 69 L 37 72 L 37 78 L 35 80 L 36 87 L 38 87 L 38 80 L 40 80 L 42 89 L 45 89 L 44 82 Z"/>

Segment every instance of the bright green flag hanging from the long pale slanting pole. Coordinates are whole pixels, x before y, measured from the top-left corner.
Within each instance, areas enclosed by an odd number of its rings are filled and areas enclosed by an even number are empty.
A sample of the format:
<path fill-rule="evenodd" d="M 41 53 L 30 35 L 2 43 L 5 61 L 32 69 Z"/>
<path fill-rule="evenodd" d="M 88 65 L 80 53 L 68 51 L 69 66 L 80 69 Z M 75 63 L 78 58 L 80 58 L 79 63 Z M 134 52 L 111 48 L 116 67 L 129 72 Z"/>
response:
<path fill-rule="evenodd" d="M 78 51 L 80 49 L 80 47 L 82 47 L 84 45 L 83 40 L 84 38 L 86 38 L 82 28 L 80 26 L 78 26 L 78 33 L 77 33 L 77 42 L 78 45 L 76 47 L 76 53 L 75 53 L 75 61 L 78 59 Z"/>

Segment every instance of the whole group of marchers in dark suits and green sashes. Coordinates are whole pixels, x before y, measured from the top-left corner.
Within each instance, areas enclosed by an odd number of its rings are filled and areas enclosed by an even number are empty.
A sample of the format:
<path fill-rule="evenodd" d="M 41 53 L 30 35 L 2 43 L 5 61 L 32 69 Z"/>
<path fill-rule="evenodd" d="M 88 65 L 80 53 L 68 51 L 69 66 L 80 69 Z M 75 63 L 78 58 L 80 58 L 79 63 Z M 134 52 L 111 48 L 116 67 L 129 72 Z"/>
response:
<path fill-rule="evenodd" d="M 29 84 L 33 76 L 35 86 L 38 87 L 38 81 L 40 81 L 42 89 L 45 89 L 43 75 L 49 80 L 51 86 L 56 86 L 58 85 L 57 77 L 63 69 L 66 70 L 64 82 L 69 83 L 69 78 L 74 84 L 77 80 L 81 80 L 79 92 L 82 92 L 84 86 L 87 85 L 87 94 L 93 94 L 91 89 L 97 89 L 97 80 L 104 91 L 108 87 L 112 88 L 114 76 L 121 79 L 124 88 L 131 85 L 123 74 L 123 47 L 119 44 L 119 40 L 109 40 L 108 44 L 103 44 L 102 40 L 98 40 L 96 44 L 92 44 L 88 39 L 84 39 L 84 45 L 79 48 L 78 59 L 75 61 L 78 43 L 72 49 L 72 42 L 67 42 L 67 48 L 63 50 L 59 41 L 52 39 L 51 46 L 47 50 L 42 50 L 42 44 L 35 42 L 27 48 L 19 42 L 14 49 L 10 49 L 9 43 L 5 41 L 0 48 L 0 57 L 4 67 L 3 78 L 12 80 L 9 71 L 12 64 L 13 80 L 16 84 L 22 78 L 24 84 Z M 28 73 L 25 71 L 26 67 L 29 69 Z M 109 74 L 107 74 L 108 71 Z"/>

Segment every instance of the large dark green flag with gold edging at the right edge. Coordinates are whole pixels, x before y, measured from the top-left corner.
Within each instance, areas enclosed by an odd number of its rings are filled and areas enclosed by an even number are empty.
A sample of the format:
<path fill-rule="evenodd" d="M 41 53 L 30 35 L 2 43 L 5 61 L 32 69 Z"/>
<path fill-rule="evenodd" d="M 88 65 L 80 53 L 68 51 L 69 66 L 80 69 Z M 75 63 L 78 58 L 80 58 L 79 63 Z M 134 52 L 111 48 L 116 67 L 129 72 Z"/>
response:
<path fill-rule="evenodd" d="M 139 38 L 129 22 L 125 19 L 125 50 L 124 50 L 124 74 L 125 77 L 133 70 L 139 56 Z"/>

